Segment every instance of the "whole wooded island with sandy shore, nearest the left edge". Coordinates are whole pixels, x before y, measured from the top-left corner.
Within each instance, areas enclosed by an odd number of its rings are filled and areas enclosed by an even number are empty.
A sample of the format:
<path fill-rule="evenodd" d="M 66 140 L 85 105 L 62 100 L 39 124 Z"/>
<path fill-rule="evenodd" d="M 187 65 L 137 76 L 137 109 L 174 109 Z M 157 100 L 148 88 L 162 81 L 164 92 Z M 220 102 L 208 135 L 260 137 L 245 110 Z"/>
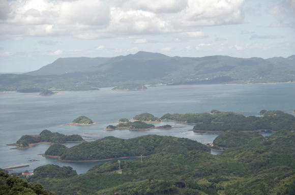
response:
<path fill-rule="evenodd" d="M 43 130 L 39 135 L 25 135 L 17 140 L 14 144 L 7 144 L 8 146 L 16 146 L 11 149 L 26 149 L 33 147 L 37 144 L 66 144 L 67 142 L 85 142 L 83 138 L 79 135 L 66 136 L 57 132 L 50 132 L 49 130 Z"/>

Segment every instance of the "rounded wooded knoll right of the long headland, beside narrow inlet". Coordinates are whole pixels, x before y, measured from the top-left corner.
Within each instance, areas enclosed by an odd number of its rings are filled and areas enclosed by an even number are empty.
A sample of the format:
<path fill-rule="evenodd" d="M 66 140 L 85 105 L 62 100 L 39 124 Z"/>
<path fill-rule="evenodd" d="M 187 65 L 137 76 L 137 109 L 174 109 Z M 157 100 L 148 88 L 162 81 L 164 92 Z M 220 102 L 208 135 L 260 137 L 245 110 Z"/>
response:
<path fill-rule="evenodd" d="M 250 142 L 250 140 L 254 138 L 262 138 L 260 134 L 257 133 L 243 133 L 239 131 L 226 131 L 223 134 L 219 135 L 215 140 L 213 141 L 214 146 L 218 147 L 225 147 L 225 148 L 231 148 L 231 147 L 237 147 L 242 146 L 244 144 L 247 144 Z"/>

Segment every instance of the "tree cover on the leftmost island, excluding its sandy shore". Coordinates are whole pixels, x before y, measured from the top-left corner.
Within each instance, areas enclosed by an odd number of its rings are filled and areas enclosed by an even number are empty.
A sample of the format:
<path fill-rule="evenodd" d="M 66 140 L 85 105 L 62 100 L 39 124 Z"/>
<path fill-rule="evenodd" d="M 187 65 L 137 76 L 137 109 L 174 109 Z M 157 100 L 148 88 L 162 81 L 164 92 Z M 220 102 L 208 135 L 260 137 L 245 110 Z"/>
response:
<path fill-rule="evenodd" d="M 51 143 L 65 143 L 65 142 L 73 142 L 73 141 L 83 141 L 83 138 L 79 135 L 70 135 L 66 136 L 60 133 L 52 133 L 47 129 L 43 130 L 39 136 L 22 136 L 19 140 L 17 140 L 17 144 L 20 147 L 27 147 L 28 144 L 39 143 L 39 142 L 51 142 Z"/>

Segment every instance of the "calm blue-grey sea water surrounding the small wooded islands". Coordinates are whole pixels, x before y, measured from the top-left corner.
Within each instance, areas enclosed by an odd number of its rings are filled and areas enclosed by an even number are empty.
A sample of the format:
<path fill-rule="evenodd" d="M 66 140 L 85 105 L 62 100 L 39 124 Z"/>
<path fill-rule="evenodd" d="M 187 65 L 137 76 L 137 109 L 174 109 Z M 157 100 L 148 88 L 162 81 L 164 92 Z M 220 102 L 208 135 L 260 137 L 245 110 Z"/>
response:
<path fill-rule="evenodd" d="M 0 93 L 0 168 L 19 164 L 30 167 L 15 171 L 34 170 L 46 164 L 71 166 L 78 173 L 102 163 L 64 163 L 44 158 L 49 147 L 36 145 L 24 150 L 11 150 L 9 143 L 15 143 L 22 135 L 39 134 L 43 129 L 66 135 L 79 134 L 84 139 L 114 136 L 134 138 L 157 134 L 189 138 L 199 142 L 212 142 L 215 134 L 196 134 L 192 125 L 175 122 L 162 122 L 156 125 L 179 126 L 172 129 L 152 129 L 148 132 L 128 130 L 103 131 L 108 123 L 120 118 L 131 119 L 134 115 L 149 112 L 161 117 L 166 113 L 196 113 L 220 111 L 244 112 L 256 115 L 260 110 L 295 109 L 295 84 L 271 85 L 179 85 L 151 87 L 145 91 L 111 91 L 103 88 L 94 92 L 68 92 L 52 96 L 39 96 L 38 93 Z M 74 118 L 85 115 L 98 124 L 90 126 L 61 126 Z M 88 135 L 97 134 L 97 135 Z M 88 137 L 88 138 L 87 138 Z M 91 141 L 91 140 L 88 140 Z M 74 143 L 67 146 L 73 146 Z M 29 162 L 30 159 L 40 161 Z"/>

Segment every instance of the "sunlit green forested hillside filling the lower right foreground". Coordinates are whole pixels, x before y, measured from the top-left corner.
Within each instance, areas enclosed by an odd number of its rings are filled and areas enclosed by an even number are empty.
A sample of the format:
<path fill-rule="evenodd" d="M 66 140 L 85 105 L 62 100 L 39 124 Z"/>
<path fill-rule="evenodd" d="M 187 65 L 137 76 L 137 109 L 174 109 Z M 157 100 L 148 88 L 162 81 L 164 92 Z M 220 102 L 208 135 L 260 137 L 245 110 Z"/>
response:
<path fill-rule="evenodd" d="M 295 192 L 295 133 L 283 130 L 257 137 L 220 155 L 165 151 L 143 158 L 142 163 L 123 160 L 121 168 L 122 174 L 117 174 L 117 161 L 109 161 L 85 174 L 65 179 L 44 176 L 36 182 L 65 195 L 290 195 Z"/>

